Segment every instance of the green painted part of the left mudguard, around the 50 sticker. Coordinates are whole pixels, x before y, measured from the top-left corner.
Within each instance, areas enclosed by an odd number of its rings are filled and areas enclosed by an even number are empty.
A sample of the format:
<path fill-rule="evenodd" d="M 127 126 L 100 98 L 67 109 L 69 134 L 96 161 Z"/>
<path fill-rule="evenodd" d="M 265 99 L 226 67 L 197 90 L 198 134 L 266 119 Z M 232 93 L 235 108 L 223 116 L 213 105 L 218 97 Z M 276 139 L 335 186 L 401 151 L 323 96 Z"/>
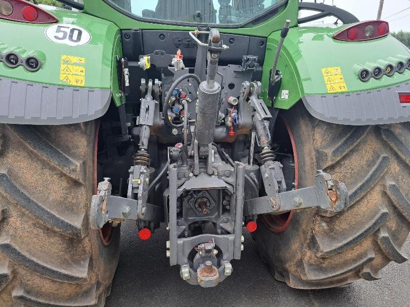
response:
<path fill-rule="evenodd" d="M 110 21 L 63 9 L 49 10 L 61 24 L 73 24 L 91 33 L 91 41 L 84 46 L 68 46 L 50 41 L 45 30 L 50 24 L 29 24 L 0 19 L 0 53 L 16 51 L 20 56 L 40 54 L 42 68 L 29 72 L 23 66 L 8 68 L 0 62 L 0 76 L 36 83 L 68 86 L 60 81 L 61 55 L 84 57 L 85 86 L 95 89 L 111 89 L 117 105 L 121 103 L 116 57 L 122 55 L 121 36 L 118 27 Z"/>

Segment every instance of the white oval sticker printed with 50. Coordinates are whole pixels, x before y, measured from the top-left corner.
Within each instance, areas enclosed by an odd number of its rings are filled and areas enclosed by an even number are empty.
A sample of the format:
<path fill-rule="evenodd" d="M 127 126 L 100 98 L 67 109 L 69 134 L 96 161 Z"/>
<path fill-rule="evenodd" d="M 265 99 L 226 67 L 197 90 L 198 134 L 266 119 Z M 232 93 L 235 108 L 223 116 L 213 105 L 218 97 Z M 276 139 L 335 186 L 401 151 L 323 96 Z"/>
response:
<path fill-rule="evenodd" d="M 46 29 L 45 34 L 52 42 L 68 46 L 86 45 L 91 40 L 90 32 L 71 24 L 52 25 Z"/>

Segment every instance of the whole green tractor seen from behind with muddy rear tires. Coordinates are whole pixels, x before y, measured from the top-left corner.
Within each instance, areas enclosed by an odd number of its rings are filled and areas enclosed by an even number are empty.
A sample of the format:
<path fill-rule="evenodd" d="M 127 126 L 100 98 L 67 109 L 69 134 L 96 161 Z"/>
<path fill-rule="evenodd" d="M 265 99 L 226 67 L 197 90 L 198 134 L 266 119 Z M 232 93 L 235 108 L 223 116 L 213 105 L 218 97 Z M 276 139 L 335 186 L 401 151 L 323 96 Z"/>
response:
<path fill-rule="evenodd" d="M 0 0 L 0 305 L 104 306 L 130 220 L 145 244 L 165 224 L 164 260 L 204 288 L 248 231 L 297 289 L 407 260 L 410 50 L 388 23 L 60 2 Z M 341 25 L 303 26 L 325 16 Z"/>

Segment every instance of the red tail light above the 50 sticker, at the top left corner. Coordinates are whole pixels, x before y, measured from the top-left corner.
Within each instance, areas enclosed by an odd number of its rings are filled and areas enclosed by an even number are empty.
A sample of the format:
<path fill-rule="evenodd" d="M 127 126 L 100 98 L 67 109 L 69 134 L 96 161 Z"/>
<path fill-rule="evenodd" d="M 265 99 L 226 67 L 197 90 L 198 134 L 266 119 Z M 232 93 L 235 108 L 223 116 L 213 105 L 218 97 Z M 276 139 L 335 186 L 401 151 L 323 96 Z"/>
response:
<path fill-rule="evenodd" d="M 0 18 L 34 24 L 58 21 L 53 15 L 24 0 L 0 0 Z"/>

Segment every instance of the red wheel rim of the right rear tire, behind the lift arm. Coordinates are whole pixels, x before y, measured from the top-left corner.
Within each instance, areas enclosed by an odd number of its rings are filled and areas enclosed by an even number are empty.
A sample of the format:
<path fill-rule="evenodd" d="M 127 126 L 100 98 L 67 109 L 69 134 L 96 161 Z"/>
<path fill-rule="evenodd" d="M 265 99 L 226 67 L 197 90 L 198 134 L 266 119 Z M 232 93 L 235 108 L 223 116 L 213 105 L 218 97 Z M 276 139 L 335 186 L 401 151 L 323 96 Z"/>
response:
<path fill-rule="evenodd" d="M 293 136 L 291 127 L 289 126 L 288 122 L 283 117 L 281 117 L 281 119 L 283 120 L 283 123 L 285 124 L 286 129 L 288 130 L 289 138 L 291 139 L 292 143 L 293 159 L 295 161 L 295 189 L 297 189 L 299 186 L 299 164 L 295 145 L 295 138 Z M 293 210 L 280 215 L 265 214 L 261 216 L 261 220 L 270 231 L 274 233 L 281 233 L 285 231 L 286 228 L 289 227 L 289 225 L 291 225 L 294 214 L 295 212 Z"/>

